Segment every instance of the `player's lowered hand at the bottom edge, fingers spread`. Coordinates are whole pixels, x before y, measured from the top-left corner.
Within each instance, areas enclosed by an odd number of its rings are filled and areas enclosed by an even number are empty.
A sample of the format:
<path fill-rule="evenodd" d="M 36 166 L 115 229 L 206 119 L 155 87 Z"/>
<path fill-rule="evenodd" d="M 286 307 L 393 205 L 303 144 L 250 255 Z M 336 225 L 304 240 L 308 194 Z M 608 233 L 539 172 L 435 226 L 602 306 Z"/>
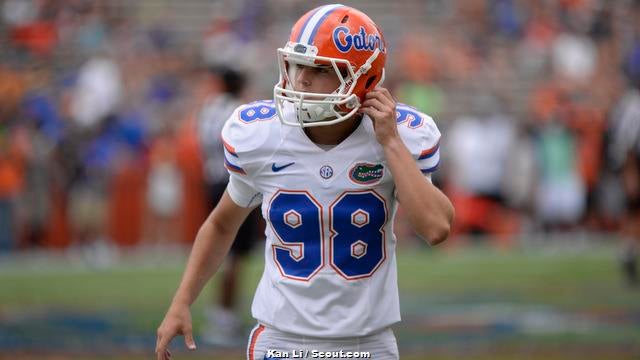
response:
<path fill-rule="evenodd" d="M 156 339 L 157 360 L 171 359 L 169 343 L 176 335 L 184 335 L 184 343 L 189 350 L 196 349 L 191 330 L 191 311 L 188 306 L 172 304 L 158 327 Z"/>

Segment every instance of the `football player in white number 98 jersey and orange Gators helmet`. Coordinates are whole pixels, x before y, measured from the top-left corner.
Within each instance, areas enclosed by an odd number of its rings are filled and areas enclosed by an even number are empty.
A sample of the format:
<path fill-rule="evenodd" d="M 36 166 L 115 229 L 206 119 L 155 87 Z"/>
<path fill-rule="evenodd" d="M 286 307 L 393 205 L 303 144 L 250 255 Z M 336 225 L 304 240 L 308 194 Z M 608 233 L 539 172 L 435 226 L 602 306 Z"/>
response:
<path fill-rule="evenodd" d="M 239 107 L 222 131 L 229 185 L 196 237 L 157 357 L 169 358 L 178 334 L 195 348 L 189 307 L 259 205 L 265 268 L 247 358 L 342 350 L 397 359 L 393 219 L 401 203 L 429 244 L 447 238 L 454 210 L 430 181 L 440 133 L 380 86 L 386 43 L 356 9 L 311 10 L 277 56 L 273 101 Z"/>

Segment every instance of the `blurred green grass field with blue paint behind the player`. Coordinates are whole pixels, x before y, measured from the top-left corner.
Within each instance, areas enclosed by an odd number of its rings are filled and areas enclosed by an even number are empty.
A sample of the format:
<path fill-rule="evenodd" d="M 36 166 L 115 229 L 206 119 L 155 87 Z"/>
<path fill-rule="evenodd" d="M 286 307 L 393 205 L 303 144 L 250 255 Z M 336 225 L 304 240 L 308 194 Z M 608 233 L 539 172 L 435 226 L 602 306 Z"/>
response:
<path fill-rule="evenodd" d="M 640 289 L 623 284 L 615 250 L 400 250 L 402 358 L 639 359 Z M 138 251 L 101 268 L 63 255 L 0 259 L 0 358 L 151 358 L 184 256 Z M 249 326 L 261 256 L 247 264 Z M 194 304 L 196 330 L 211 290 Z M 244 356 L 203 344 L 186 353 L 182 339 L 173 348 L 178 359 Z"/>

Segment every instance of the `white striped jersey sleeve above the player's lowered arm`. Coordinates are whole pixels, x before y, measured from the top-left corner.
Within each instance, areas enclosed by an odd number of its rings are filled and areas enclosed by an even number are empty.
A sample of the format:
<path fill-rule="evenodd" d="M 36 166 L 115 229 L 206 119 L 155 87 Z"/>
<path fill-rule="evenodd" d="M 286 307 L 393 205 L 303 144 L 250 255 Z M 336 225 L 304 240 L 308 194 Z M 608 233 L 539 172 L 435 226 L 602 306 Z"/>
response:
<path fill-rule="evenodd" d="M 265 109 L 269 108 L 265 103 Z M 238 107 L 227 119 L 222 129 L 224 166 L 229 172 L 227 192 L 237 205 L 254 207 L 260 204 L 262 194 L 256 187 L 254 177 L 261 164 L 261 146 L 267 138 L 264 125 L 247 121 L 247 109 L 255 104 Z"/>

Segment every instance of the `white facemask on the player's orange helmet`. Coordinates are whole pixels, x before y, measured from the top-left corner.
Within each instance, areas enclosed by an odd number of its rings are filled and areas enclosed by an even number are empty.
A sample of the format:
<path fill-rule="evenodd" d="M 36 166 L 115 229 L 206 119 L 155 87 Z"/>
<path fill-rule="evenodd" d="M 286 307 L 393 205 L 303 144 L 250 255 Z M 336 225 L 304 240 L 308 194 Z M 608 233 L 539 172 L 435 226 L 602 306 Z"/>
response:
<path fill-rule="evenodd" d="M 378 53 L 375 51 L 360 69 L 355 69 L 348 60 L 317 56 L 315 46 L 288 42 L 277 52 L 280 77 L 274 87 L 274 100 L 280 121 L 286 125 L 311 127 L 333 125 L 351 118 L 360 108 L 360 99 L 353 90 Z M 335 72 L 340 85 L 332 93 L 296 90 L 293 81 L 296 65 L 327 67 Z M 297 121 L 289 121 L 283 116 L 285 106 L 293 107 Z"/>

